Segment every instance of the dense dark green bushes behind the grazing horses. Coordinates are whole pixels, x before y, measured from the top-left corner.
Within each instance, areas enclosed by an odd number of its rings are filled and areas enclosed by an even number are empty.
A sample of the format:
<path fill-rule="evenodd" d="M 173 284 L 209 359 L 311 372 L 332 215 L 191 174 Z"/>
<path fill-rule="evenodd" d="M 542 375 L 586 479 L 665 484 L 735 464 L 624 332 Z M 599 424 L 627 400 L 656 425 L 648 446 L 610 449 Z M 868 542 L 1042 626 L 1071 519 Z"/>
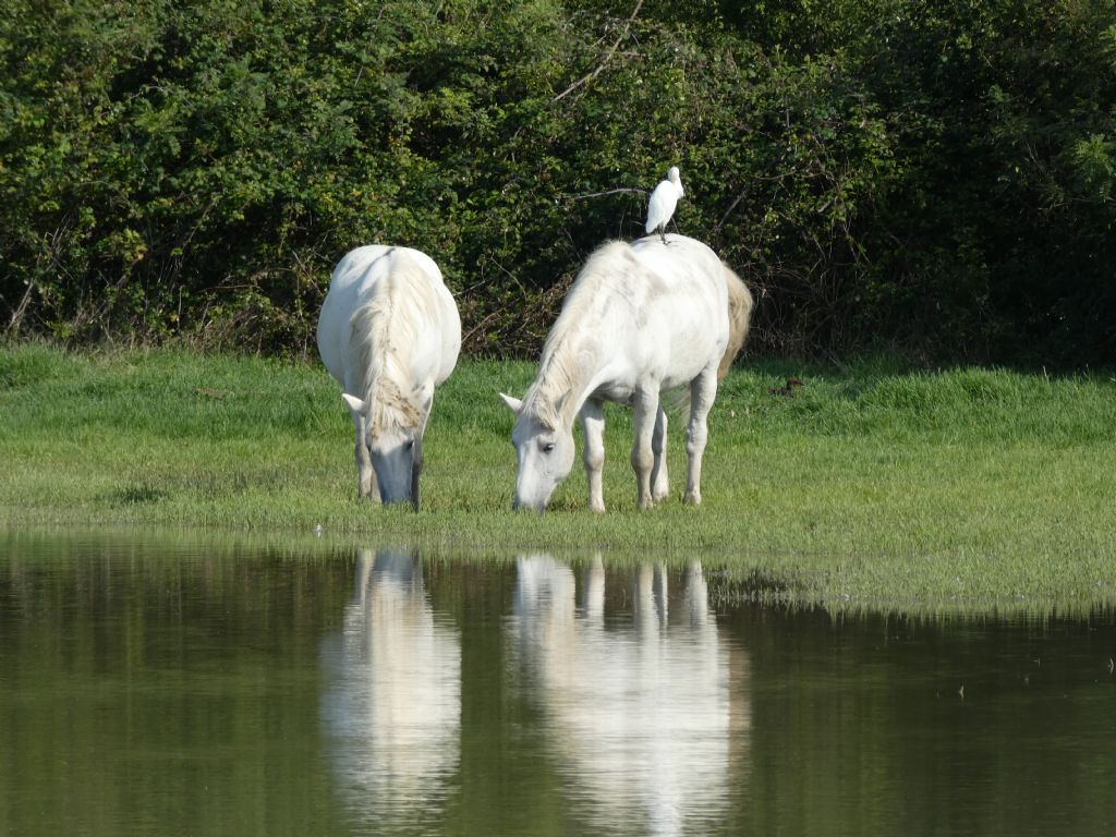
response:
<path fill-rule="evenodd" d="M 753 350 L 1116 359 L 1113 0 L 8 0 L 0 327 L 300 352 L 350 247 L 537 350 L 682 169 Z"/>

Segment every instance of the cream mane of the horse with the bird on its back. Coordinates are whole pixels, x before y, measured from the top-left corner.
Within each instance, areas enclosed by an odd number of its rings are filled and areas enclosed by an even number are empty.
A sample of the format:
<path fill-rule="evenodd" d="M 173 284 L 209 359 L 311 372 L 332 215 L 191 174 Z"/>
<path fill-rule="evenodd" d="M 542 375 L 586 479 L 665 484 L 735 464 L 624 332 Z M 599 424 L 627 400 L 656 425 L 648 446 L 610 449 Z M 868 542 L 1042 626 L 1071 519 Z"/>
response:
<path fill-rule="evenodd" d="M 597 248 L 577 275 L 566 295 L 561 312 L 550 328 L 539 374 L 523 396 L 523 411 L 530 412 L 542 426 L 555 431 L 564 426 L 573 411 L 568 395 L 580 379 L 579 373 L 593 368 L 586 363 L 588 347 L 571 339 L 575 328 L 584 326 L 585 312 L 603 294 L 613 292 L 615 286 L 636 266 L 631 247 L 623 241 L 609 241 Z"/>

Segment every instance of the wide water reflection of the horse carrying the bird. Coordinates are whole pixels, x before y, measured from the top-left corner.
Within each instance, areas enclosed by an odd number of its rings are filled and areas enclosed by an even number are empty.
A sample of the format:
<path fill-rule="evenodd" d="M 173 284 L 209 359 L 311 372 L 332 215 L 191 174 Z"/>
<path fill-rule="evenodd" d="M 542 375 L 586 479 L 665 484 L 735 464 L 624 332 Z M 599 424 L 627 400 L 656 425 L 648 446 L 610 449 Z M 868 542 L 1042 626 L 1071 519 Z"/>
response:
<path fill-rule="evenodd" d="M 615 591 L 614 591 L 615 594 Z M 518 561 L 511 631 L 537 679 L 550 740 L 575 810 L 625 834 L 699 834 L 728 814 L 730 767 L 750 710 L 740 650 L 718 637 L 700 565 L 681 596 L 663 568 L 635 570 L 605 619 L 605 570 L 574 571 L 546 556 Z M 619 599 L 615 595 L 610 603 Z"/>

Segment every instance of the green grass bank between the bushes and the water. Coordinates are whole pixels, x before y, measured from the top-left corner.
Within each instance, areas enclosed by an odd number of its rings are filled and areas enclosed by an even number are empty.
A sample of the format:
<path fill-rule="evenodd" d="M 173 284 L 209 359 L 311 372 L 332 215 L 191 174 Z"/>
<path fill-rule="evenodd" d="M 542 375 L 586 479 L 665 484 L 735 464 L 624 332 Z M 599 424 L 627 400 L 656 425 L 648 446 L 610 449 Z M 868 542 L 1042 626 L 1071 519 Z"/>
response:
<path fill-rule="evenodd" d="M 845 607 L 1116 603 L 1116 382 L 1006 369 L 745 364 L 711 416 L 700 508 L 635 508 L 610 407 L 605 502 L 580 463 L 543 516 L 510 511 L 530 363 L 462 360 L 426 436 L 423 509 L 355 497 L 352 424 L 317 364 L 183 350 L 0 348 L 0 525 L 186 527 L 454 554 L 701 558 L 739 595 Z M 786 377 L 805 385 L 771 394 Z M 578 434 L 579 436 L 579 434 Z M 580 439 L 578 437 L 580 444 Z"/>

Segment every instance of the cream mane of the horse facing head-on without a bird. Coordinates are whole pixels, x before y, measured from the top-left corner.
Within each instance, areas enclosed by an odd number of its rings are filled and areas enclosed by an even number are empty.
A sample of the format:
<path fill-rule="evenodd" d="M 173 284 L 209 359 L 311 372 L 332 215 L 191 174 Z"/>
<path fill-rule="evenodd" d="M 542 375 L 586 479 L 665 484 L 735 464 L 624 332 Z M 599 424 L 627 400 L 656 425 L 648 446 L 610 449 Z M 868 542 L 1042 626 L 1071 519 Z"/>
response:
<path fill-rule="evenodd" d="M 401 352 L 415 344 L 423 314 L 432 307 L 422 267 L 395 250 L 391 269 L 376 283 L 372 300 L 353 314 L 349 352 L 363 369 L 360 396 L 368 405 L 373 433 L 413 429 L 422 421 L 405 374 L 407 358 L 401 357 Z"/>

